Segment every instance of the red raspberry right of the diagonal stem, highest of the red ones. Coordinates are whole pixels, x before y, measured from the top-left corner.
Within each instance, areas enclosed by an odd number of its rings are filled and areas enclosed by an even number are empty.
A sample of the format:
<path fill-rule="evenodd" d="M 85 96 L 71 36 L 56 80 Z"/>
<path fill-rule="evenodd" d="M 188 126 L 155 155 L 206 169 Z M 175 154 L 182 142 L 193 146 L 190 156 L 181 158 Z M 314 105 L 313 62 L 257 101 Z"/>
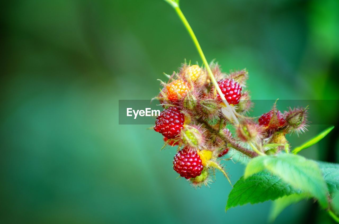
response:
<path fill-rule="evenodd" d="M 234 79 L 221 79 L 218 81 L 218 86 L 221 92 L 224 94 L 229 104 L 239 104 L 241 97 L 241 86 Z M 218 99 L 221 101 L 219 93 L 217 93 Z"/>

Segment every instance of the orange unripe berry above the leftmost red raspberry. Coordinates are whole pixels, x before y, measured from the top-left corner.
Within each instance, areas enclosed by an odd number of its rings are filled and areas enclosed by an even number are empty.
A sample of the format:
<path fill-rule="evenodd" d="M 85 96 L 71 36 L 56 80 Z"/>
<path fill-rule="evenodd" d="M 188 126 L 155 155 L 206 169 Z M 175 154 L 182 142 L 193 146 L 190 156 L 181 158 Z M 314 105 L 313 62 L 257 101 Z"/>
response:
<path fill-rule="evenodd" d="M 175 80 L 166 86 L 166 96 L 172 103 L 178 102 L 179 99 L 186 96 L 187 92 L 190 91 L 190 86 L 186 81 Z"/>

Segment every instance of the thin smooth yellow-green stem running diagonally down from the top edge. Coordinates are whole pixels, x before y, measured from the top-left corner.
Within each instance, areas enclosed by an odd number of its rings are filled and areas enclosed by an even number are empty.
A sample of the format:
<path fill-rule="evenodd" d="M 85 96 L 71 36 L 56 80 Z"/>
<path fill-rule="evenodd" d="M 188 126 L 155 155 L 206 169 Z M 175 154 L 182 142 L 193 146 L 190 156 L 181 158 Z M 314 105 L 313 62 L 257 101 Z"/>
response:
<path fill-rule="evenodd" d="M 207 69 L 207 72 L 208 72 L 208 75 L 210 76 L 210 79 L 211 79 L 211 82 L 213 83 L 213 85 L 215 86 L 216 90 L 218 91 L 219 93 L 219 96 L 221 97 L 222 99 L 222 102 L 225 104 L 226 106 L 226 110 L 231 114 L 235 124 L 239 124 L 239 121 L 238 121 L 238 118 L 236 117 L 232 107 L 230 106 L 230 104 L 228 104 L 224 94 L 221 92 L 221 89 L 219 88 L 219 85 L 213 75 L 213 72 L 210 68 L 210 65 L 208 64 L 207 60 L 206 60 L 206 57 L 204 55 L 204 53 L 202 52 L 202 49 L 200 47 L 200 44 L 198 42 L 198 39 L 197 37 L 195 36 L 194 32 L 193 32 L 193 29 L 191 28 L 190 24 L 188 23 L 187 19 L 185 18 L 184 14 L 181 12 L 181 9 L 179 7 L 179 0 L 165 0 L 166 2 L 168 2 L 174 9 L 175 11 L 177 12 L 179 18 L 181 19 L 182 23 L 184 24 L 184 26 L 186 27 L 188 33 L 190 34 L 199 54 L 200 54 L 200 57 Z"/>

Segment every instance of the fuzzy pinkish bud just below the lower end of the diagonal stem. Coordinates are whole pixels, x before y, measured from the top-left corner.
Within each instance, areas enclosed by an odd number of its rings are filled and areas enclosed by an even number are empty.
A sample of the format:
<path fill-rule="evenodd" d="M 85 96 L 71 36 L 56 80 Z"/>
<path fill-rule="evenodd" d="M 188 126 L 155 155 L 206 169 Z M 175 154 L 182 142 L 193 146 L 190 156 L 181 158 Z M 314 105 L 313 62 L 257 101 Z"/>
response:
<path fill-rule="evenodd" d="M 238 137 L 244 142 L 255 142 L 262 137 L 262 128 L 252 120 L 242 120 L 236 127 Z"/>

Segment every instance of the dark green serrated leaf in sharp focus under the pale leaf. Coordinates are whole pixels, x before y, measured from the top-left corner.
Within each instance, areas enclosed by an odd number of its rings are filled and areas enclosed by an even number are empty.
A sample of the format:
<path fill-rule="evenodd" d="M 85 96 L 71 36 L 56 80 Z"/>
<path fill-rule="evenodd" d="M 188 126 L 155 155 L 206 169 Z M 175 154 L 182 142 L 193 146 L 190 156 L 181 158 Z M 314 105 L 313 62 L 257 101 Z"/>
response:
<path fill-rule="evenodd" d="M 284 195 L 301 193 L 291 184 L 281 180 L 267 171 L 254 174 L 247 179 L 241 177 L 228 195 L 226 210 L 247 203 L 255 204 L 267 200 L 275 200 Z"/>

